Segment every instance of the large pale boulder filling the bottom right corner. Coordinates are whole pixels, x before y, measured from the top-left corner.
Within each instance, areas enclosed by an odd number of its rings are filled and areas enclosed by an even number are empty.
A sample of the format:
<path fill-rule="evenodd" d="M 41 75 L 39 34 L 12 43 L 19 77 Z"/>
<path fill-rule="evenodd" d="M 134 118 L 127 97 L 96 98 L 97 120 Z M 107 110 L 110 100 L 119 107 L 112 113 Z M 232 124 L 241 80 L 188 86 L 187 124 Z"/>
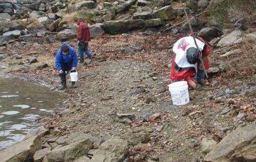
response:
<path fill-rule="evenodd" d="M 204 158 L 211 162 L 256 161 L 256 125 L 247 124 L 224 137 Z"/>

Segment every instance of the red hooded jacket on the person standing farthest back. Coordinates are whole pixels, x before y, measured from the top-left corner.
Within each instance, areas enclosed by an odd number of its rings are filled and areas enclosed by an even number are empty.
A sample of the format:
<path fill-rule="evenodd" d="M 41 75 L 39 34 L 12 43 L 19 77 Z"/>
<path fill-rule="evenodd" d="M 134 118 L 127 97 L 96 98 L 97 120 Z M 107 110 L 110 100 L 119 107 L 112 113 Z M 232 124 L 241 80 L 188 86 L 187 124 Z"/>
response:
<path fill-rule="evenodd" d="M 79 25 L 77 30 L 77 40 L 81 40 L 83 42 L 90 41 L 90 31 L 88 26 L 82 22 L 81 19 L 77 20 L 77 25 Z"/>

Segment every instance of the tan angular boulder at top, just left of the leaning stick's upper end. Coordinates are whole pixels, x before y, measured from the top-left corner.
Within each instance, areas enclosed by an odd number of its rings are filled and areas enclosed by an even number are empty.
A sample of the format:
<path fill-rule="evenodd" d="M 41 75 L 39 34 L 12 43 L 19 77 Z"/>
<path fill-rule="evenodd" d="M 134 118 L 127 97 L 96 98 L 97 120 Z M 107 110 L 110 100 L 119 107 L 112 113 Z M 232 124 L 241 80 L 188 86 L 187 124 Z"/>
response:
<path fill-rule="evenodd" d="M 173 20 L 175 19 L 175 12 L 172 6 L 165 6 L 153 12 L 152 17 L 163 18 L 164 20 Z"/>

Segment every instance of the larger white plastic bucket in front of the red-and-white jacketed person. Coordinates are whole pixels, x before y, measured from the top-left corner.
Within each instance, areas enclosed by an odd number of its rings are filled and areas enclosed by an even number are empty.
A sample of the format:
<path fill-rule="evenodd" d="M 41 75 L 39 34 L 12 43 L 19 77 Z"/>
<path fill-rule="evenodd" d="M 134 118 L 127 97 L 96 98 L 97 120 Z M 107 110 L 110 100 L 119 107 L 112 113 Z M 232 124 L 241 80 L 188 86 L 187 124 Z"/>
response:
<path fill-rule="evenodd" d="M 171 92 L 173 105 L 180 106 L 189 103 L 187 81 L 174 82 L 169 84 L 168 87 Z"/>

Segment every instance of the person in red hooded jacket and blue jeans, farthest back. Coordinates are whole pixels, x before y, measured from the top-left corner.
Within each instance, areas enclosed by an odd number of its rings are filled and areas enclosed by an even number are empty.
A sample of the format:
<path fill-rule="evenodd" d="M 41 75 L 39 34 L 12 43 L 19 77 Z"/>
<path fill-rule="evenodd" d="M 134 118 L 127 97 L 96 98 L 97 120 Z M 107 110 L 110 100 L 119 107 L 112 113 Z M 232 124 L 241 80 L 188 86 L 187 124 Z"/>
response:
<path fill-rule="evenodd" d="M 87 24 L 83 23 L 81 19 L 77 20 L 77 25 L 79 25 L 77 30 L 77 41 L 78 41 L 78 50 L 80 56 L 80 62 L 84 62 L 84 53 L 88 58 L 92 59 L 92 55 L 88 49 L 88 43 L 91 40 L 90 31 Z"/>

